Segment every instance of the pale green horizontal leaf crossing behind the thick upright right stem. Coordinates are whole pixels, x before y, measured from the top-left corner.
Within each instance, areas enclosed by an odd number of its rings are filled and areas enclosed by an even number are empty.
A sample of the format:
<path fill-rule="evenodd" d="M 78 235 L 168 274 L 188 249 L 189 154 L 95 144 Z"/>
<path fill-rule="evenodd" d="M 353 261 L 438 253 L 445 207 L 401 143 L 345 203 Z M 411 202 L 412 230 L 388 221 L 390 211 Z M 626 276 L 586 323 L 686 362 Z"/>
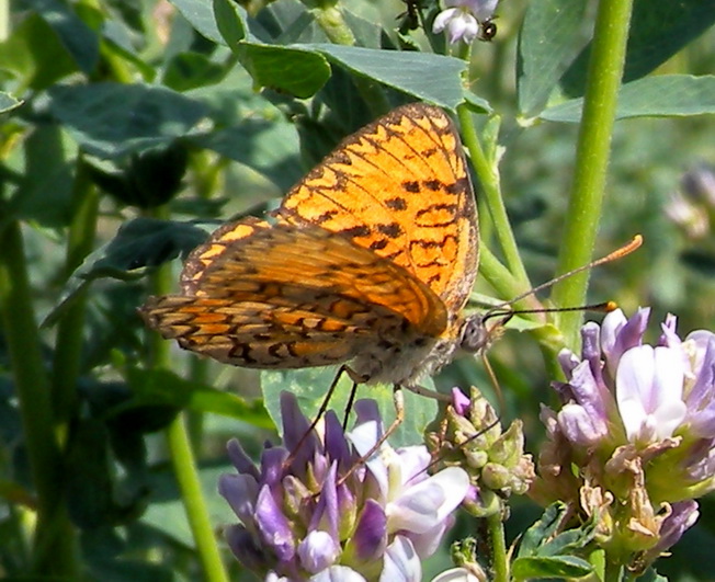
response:
<path fill-rule="evenodd" d="M 541 114 L 551 122 L 579 123 L 583 99 L 574 99 Z M 660 75 L 624 84 L 618 92 L 616 119 L 644 116 L 715 113 L 715 76 Z"/>

